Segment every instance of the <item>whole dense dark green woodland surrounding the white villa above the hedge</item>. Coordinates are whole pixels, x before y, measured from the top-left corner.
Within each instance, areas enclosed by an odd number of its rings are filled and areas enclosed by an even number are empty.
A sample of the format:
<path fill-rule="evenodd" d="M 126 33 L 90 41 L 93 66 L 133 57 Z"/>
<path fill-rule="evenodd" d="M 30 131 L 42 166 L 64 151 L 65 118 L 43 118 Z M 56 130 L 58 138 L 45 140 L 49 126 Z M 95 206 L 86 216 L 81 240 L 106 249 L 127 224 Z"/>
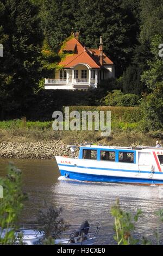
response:
<path fill-rule="evenodd" d="M 135 106 L 142 98 L 142 129 L 161 131 L 162 17 L 159 0 L 0 0 L 1 120 L 51 120 L 66 105 Z M 54 74 L 63 57 L 55 50 L 73 31 L 91 48 L 103 36 L 116 79 L 96 92 L 44 92 L 43 78 Z M 111 93 L 117 89 L 123 94 Z"/>

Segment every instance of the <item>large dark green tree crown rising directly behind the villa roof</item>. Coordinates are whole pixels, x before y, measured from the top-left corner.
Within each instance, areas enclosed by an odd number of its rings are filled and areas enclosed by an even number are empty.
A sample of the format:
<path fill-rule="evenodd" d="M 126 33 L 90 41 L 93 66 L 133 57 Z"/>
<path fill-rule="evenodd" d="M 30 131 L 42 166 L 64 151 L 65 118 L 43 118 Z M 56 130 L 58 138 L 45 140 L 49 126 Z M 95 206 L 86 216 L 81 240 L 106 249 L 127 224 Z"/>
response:
<path fill-rule="evenodd" d="M 72 31 L 80 31 L 80 41 L 91 48 L 99 47 L 103 35 L 104 51 L 117 65 L 117 74 L 122 74 L 137 43 L 139 1 L 45 0 L 42 8 L 42 27 L 53 48 Z"/>

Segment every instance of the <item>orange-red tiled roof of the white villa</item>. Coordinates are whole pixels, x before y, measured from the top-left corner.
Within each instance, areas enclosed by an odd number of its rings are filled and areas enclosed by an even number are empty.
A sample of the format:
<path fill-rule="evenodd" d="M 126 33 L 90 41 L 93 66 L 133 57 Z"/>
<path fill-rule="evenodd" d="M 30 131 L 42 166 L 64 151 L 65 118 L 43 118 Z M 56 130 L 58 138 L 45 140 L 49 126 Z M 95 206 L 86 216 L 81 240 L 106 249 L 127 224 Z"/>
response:
<path fill-rule="evenodd" d="M 66 56 L 64 60 L 59 62 L 59 65 L 64 66 L 64 68 L 72 68 L 79 63 L 85 63 L 90 66 L 90 68 L 100 69 L 102 68 L 99 62 L 99 50 L 87 49 L 84 47 L 76 38 L 72 38 L 65 43 L 64 48 L 59 50 L 62 51 L 74 51 L 74 54 Z M 111 60 L 103 53 L 103 64 L 113 64 Z"/>

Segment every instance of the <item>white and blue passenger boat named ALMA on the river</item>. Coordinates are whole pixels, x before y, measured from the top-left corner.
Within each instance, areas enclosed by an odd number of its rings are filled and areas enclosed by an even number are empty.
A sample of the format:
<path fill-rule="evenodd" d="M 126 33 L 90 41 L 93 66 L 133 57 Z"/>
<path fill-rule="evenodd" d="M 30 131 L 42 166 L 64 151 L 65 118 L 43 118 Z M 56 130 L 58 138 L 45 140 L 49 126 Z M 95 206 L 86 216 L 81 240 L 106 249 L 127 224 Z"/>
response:
<path fill-rule="evenodd" d="M 163 148 L 81 145 L 77 158 L 55 159 L 67 179 L 163 185 Z"/>

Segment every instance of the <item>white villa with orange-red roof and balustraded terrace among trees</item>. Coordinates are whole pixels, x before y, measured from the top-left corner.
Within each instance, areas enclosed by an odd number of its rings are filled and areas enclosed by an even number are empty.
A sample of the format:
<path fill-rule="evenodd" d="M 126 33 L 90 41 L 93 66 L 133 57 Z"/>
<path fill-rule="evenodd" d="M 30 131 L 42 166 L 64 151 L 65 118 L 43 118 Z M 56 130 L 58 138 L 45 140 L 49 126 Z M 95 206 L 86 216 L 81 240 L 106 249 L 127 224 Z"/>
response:
<path fill-rule="evenodd" d="M 79 42 L 79 32 L 60 48 L 66 58 L 58 64 L 53 79 L 45 79 L 45 89 L 87 90 L 97 88 L 101 80 L 115 77 L 114 63 L 103 52 L 102 36 L 99 49 L 89 49 Z"/>

